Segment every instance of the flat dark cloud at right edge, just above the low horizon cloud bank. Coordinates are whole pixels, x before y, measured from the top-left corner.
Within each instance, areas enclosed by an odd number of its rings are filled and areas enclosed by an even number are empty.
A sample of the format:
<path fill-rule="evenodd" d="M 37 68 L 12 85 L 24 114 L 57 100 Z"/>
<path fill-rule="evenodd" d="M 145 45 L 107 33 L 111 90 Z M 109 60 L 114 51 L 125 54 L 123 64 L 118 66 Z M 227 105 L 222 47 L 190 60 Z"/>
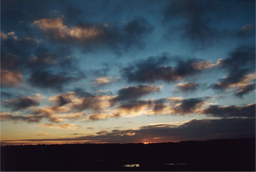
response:
<path fill-rule="evenodd" d="M 210 106 L 199 110 L 199 113 L 214 117 L 255 117 L 255 104 L 247 106 Z"/>

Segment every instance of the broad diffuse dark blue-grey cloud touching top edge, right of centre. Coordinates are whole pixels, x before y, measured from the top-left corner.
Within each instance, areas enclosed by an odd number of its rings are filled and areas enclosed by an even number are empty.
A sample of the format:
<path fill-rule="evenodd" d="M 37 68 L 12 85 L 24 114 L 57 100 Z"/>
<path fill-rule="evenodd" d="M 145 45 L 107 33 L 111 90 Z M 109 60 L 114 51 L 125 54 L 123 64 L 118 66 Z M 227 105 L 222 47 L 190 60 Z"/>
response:
<path fill-rule="evenodd" d="M 224 36 L 212 25 L 223 14 L 217 7 L 213 1 L 172 1 L 164 11 L 164 22 L 171 24 L 170 30 L 182 31 L 183 36 L 193 42 L 210 44 L 210 41 Z M 181 23 L 173 25 L 175 19 Z"/>

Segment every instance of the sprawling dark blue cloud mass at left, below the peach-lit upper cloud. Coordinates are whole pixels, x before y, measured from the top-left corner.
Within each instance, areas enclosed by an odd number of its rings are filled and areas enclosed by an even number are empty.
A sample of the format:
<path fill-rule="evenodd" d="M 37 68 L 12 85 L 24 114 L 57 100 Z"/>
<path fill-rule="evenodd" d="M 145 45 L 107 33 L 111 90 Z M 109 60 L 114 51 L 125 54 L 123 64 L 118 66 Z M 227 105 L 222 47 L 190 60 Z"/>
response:
<path fill-rule="evenodd" d="M 14 87 L 22 81 L 22 74 L 31 74 L 29 81 L 33 86 L 61 91 L 64 83 L 86 77 L 77 67 L 78 61 L 71 56 L 72 52 L 68 47 L 53 47 L 33 37 L 14 39 L 15 32 L 10 33 L 12 34 L 7 34 L 6 39 L 1 39 L 1 69 L 4 69 L 1 75 L 7 75 L 8 72 L 15 80 L 6 80 L 3 76 L 1 86 Z"/>

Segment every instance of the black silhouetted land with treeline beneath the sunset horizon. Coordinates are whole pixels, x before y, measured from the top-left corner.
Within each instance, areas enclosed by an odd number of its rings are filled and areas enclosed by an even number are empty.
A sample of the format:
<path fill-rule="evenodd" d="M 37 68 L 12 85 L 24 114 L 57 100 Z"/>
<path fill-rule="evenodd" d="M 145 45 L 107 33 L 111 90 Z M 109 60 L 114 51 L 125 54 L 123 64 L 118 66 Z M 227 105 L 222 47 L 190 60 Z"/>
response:
<path fill-rule="evenodd" d="M 1 146 L 1 171 L 255 171 L 255 138 Z"/>

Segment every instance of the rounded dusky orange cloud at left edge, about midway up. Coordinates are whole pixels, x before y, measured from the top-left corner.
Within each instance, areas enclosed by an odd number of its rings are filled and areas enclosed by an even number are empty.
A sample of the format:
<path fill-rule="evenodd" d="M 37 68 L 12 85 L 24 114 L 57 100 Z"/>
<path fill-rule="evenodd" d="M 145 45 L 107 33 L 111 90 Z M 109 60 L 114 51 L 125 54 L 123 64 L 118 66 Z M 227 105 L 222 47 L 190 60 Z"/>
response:
<path fill-rule="evenodd" d="M 1 70 L 1 86 L 17 87 L 22 83 L 23 75 L 20 71 Z"/>

